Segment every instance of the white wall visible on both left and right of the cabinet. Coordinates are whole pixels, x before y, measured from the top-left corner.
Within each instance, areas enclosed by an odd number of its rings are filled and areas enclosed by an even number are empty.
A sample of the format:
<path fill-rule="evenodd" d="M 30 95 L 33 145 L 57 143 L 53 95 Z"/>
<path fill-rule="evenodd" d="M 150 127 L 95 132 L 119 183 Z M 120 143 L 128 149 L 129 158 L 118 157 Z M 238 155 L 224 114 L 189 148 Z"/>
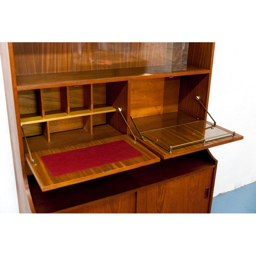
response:
<path fill-rule="evenodd" d="M 215 45 L 208 110 L 218 125 L 244 135 L 244 140 L 210 149 L 218 160 L 213 196 L 256 181 L 255 52 L 255 44 L 220 41 Z M 1 66 L 0 97 L 0 213 L 16 213 L 19 209 Z"/>

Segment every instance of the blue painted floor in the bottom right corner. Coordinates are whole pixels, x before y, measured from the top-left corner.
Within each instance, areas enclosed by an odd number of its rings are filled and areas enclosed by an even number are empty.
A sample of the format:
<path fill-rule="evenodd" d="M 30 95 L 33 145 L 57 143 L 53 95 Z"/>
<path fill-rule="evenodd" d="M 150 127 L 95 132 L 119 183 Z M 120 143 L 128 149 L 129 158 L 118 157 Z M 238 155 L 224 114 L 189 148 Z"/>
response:
<path fill-rule="evenodd" d="M 256 213 L 256 182 L 214 196 L 211 213 Z"/>

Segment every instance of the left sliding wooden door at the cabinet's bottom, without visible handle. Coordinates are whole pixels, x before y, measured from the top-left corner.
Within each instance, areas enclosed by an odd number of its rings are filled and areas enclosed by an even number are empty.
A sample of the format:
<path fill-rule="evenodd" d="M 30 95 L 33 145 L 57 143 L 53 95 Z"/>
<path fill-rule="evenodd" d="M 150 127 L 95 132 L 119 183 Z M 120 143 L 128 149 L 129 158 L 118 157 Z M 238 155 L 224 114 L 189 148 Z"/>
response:
<path fill-rule="evenodd" d="M 135 213 L 136 193 L 111 196 L 56 213 Z"/>

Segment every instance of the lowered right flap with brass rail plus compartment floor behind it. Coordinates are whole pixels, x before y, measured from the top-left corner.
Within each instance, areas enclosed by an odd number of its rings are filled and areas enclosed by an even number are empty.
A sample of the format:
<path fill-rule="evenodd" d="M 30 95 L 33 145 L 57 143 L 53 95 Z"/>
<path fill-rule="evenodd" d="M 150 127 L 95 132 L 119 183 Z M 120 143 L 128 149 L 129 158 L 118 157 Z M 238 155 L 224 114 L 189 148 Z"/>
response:
<path fill-rule="evenodd" d="M 240 140 L 241 135 L 180 111 L 132 119 L 138 141 L 163 159 Z M 136 126 L 135 126 L 135 125 Z"/>

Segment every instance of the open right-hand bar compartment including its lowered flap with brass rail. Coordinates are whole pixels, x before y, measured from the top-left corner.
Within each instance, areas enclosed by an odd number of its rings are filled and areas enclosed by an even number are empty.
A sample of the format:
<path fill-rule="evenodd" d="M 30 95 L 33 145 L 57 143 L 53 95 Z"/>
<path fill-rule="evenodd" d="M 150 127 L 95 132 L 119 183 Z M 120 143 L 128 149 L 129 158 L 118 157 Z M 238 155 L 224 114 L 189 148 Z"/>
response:
<path fill-rule="evenodd" d="M 131 81 L 131 128 L 138 141 L 163 159 L 240 140 L 206 121 L 209 74 Z M 216 118 L 216 117 L 215 117 Z"/>

